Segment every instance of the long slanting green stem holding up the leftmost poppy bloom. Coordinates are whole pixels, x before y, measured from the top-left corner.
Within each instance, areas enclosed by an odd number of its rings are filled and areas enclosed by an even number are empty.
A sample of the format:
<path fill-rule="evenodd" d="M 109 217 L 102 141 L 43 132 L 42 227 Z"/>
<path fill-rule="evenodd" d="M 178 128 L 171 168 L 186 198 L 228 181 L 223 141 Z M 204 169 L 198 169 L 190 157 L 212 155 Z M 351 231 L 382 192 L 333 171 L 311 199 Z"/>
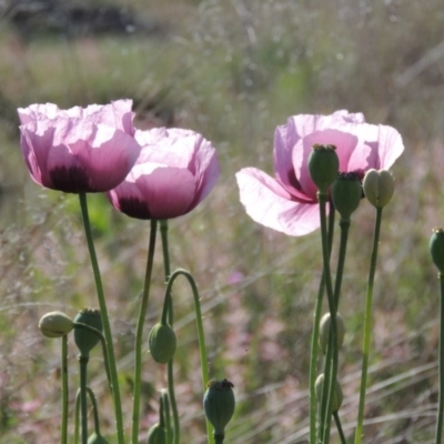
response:
<path fill-rule="evenodd" d="M 114 404 L 114 416 L 115 416 L 115 430 L 118 444 L 124 444 L 124 431 L 123 431 L 123 415 L 122 415 L 122 402 L 120 398 L 118 370 L 115 363 L 114 347 L 112 344 L 112 333 L 110 325 L 110 317 L 108 314 L 107 301 L 104 299 L 102 279 L 100 276 L 99 262 L 95 254 L 94 242 L 92 240 L 92 231 L 90 224 L 90 218 L 88 214 L 87 194 L 79 193 L 80 209 L 82 212 L 84 233 L 87 236 L 88 250 L 91 258 L 92 271 L 94 274 L 97 295 L 99 301 L 99 309 L 102 315 L 103 322 L 103 335 L 107 343 L 107 356 L 109 360 L 108 369 L 110 371 L 112 397 Z"/>

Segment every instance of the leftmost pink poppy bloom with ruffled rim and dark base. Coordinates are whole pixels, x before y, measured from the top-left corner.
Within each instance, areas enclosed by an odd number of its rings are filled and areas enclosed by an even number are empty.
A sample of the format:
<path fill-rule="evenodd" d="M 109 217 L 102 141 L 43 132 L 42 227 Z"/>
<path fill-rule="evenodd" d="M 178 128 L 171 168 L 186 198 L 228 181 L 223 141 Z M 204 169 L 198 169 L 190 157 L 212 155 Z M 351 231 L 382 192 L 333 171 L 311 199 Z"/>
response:
<path fill-rule="evenodd" d="M 117 186 L 137 161 L 131 100 L 60 110 L 56 104 L 19 108 L 20 144 L 31 178 L 67 193 Z"/>

